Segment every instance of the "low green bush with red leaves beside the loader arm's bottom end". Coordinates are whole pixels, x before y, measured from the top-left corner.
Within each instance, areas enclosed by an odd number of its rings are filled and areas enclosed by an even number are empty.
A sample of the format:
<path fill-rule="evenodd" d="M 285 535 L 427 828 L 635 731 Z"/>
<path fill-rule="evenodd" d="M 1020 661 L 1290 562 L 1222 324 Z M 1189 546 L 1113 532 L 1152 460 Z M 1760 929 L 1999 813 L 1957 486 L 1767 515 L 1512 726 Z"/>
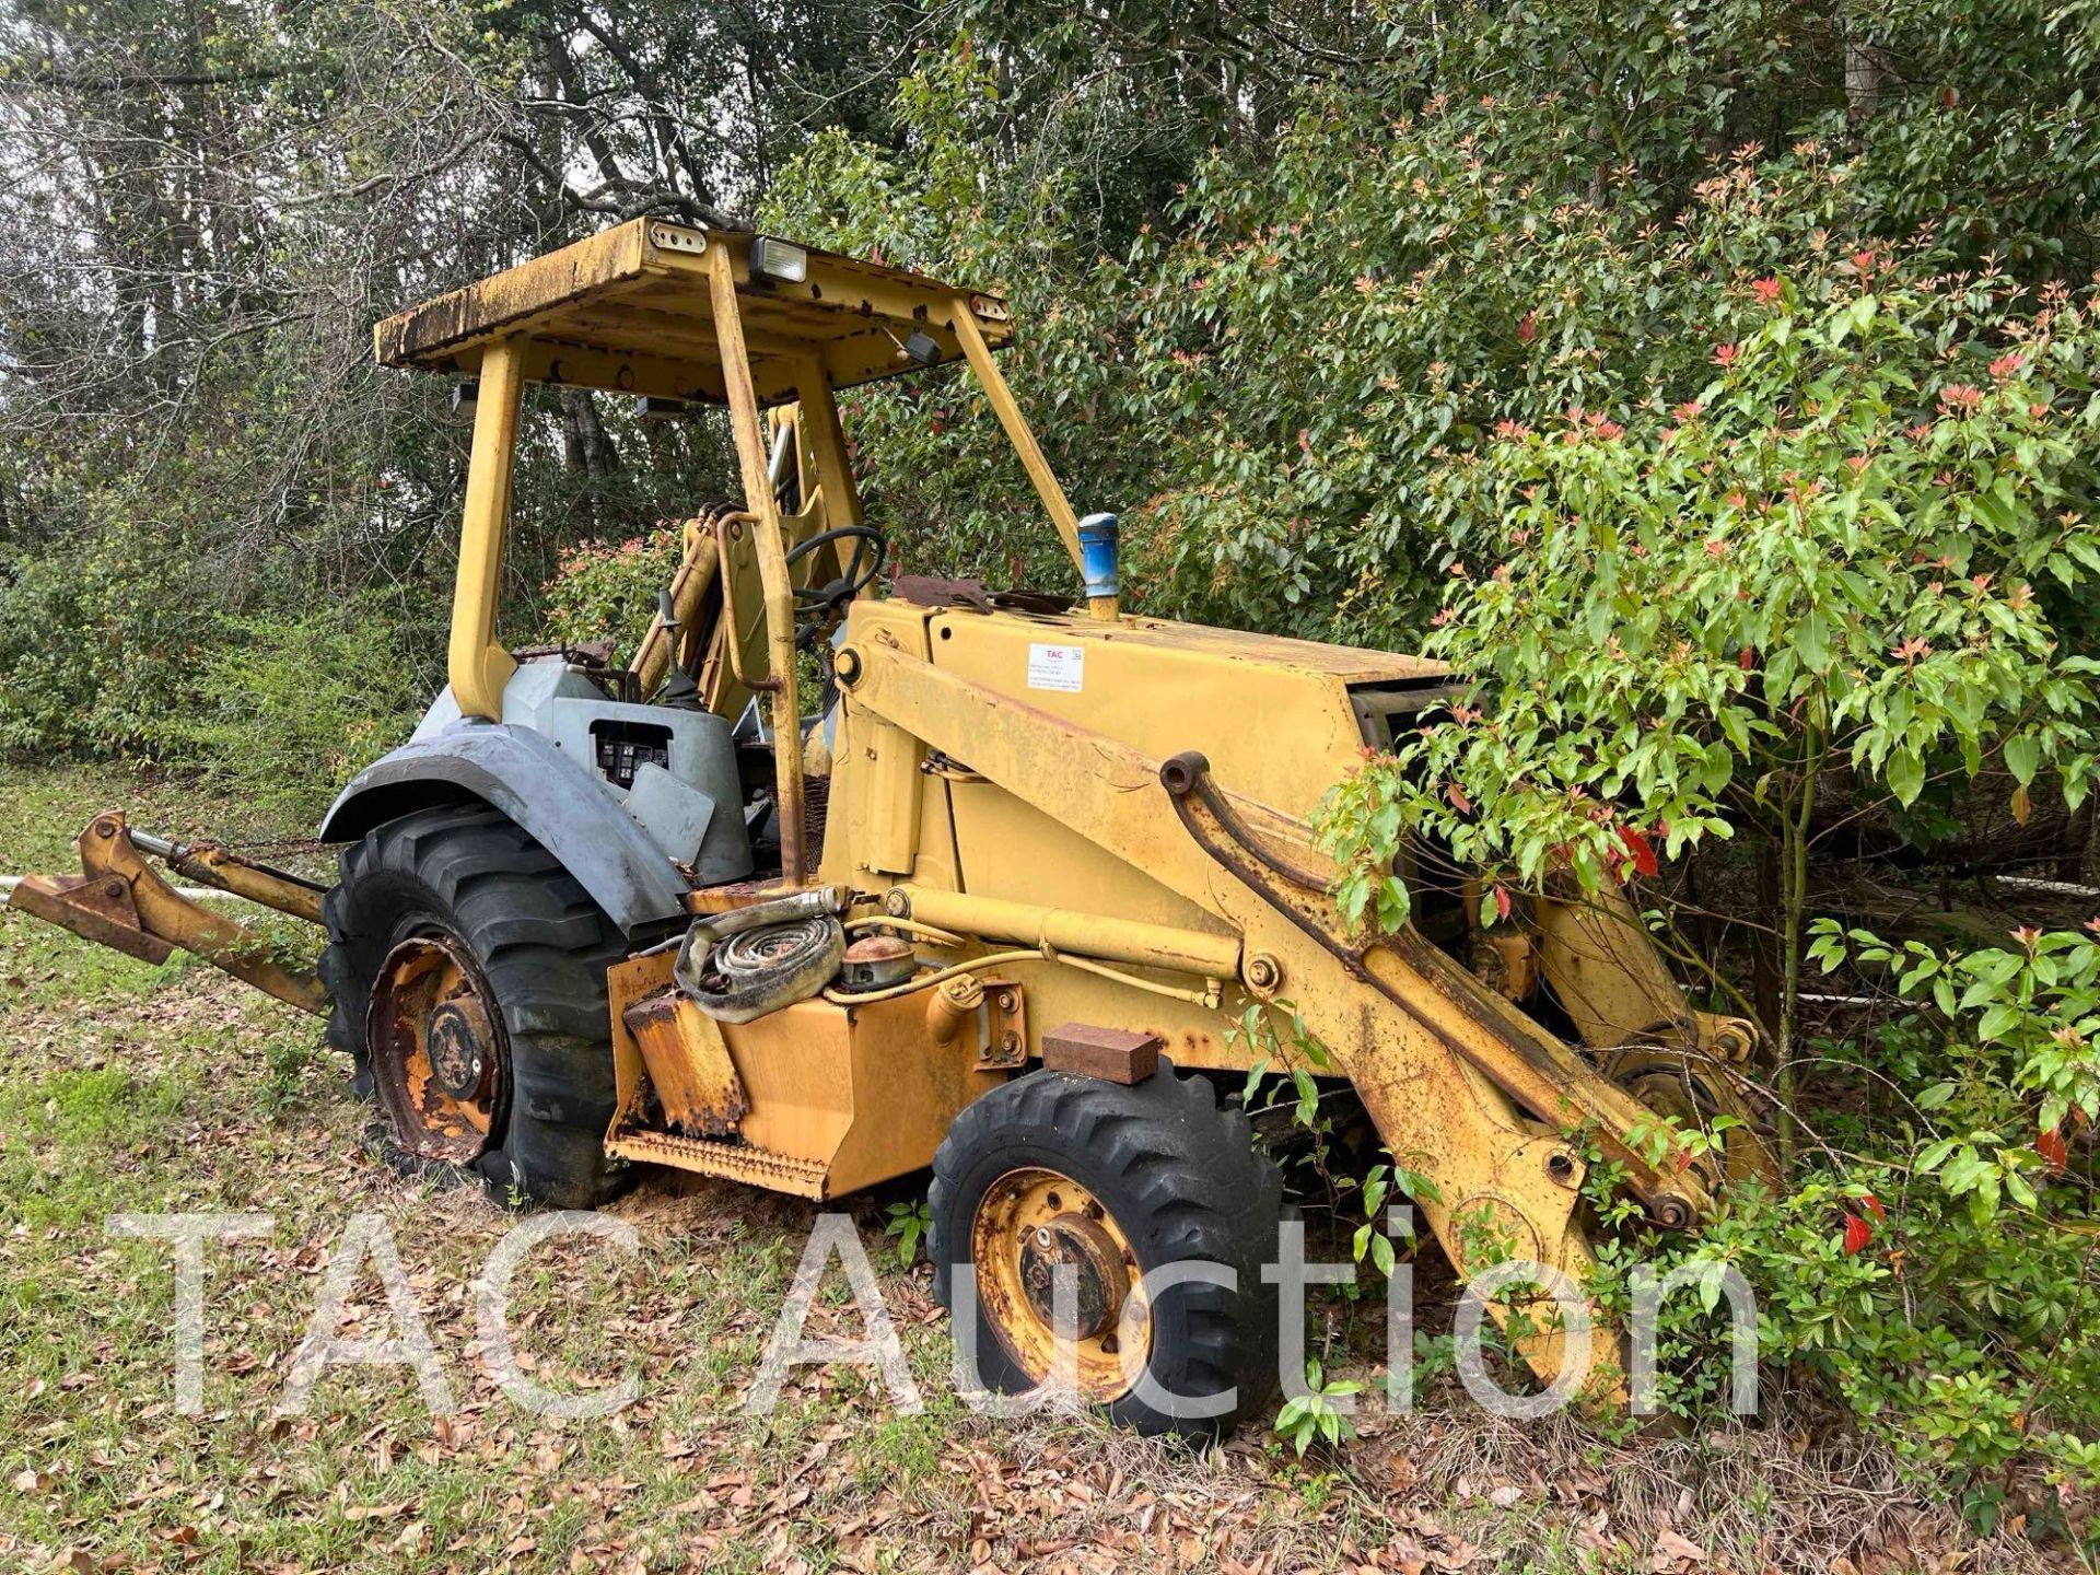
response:
<path fill-rule="evenodd" d="M 1888 966 L 1922 1008 L 1877 1042 L 1833 1046 L 1844 1102 L 1894 1111 L 1833 1111 L 1781 1197 L 1739 1191 L 1695 1237 L 1644 1226 L 1598 1166 L 1592 1199 L 1619 1226 L 1598 1250 L 1600 1300 L 1623 1315 L 1640 1262 L 1732 1266 L 1758 1296 L 1766 1371 L 1819 1376 L 1915 1468 L 1959 1480 L 1982 1518 L 2016 1462 L 2092 1491 L 2100 937 L 2026 930 L 2014 949 L 1940 956 L 1819 928 L 1827 968 Z M 1667 1411 L 1722 1413 L 1724 1327 L 1712 1296 L 1665 1302 Z"/>

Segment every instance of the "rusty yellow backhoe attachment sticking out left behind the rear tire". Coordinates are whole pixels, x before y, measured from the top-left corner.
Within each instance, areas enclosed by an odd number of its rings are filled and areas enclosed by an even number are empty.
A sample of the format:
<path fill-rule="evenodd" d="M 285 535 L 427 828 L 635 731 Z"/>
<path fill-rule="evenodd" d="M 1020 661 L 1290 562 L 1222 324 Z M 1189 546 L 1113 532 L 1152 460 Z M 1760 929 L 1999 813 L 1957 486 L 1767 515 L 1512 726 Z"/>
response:
<path fill-rule="evenodd" d="M 328 989 L 321 981 L 284 966 L 267 937 L 200 907 L 153 874 L 130 840 L 122 811 L 88 821 L 76 846 L 80 876 L 25 876 L 8 903 L 141 962 L 166 962 L 172 947 L 181 947 L 288 1006 L 326 1016 Z M 260 865 L 250 869 L 260 884 Z M 277 897 L 273 907 L 292 911 L 304 892 L 279 890 Z"/>

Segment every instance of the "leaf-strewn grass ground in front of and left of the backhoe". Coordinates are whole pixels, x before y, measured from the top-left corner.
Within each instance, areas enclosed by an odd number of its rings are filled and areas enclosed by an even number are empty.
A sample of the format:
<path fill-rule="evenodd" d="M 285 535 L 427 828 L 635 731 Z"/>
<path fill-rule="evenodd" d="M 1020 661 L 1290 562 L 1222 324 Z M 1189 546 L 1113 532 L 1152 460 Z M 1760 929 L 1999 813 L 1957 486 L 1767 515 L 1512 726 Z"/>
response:
<path fill-rule="evenodd" d="M 71 867 L 74 832 L 118 802 L 164 834 L 227 825 L 181 783 L 103 769 L 0 766 L 0 802 L 6 874 Z M 855 1218 L 926 1409 L 897 1413 L 865 1369 L 808 1367 L 773 1415 L 746 1415 L 815 1210 L 672 1174 L 613 1208 L 636 1254 L 569 1239 L 521 1266 L 527 1376 L 640 1386 L 615 1415 L 542 1420 L 481 1361 L 470 1292 L 517 1216 L 376 1159 L 317 1023 L 191 960 L 145 966 L 17 914 L 0 981 L 0 1564 L 1672 1575 L 1688 1564 L 1663 1533 L 1745 1571 L 1827 1569 L 1873 1541 L 1877 1569 L 1926 1569 L 1959 1539 L 1861 1445 L 1802 1453 L 1783 1426 L 1609 1445 L 1571 1422 L 1489 1424 L 1449 1384 L 1306 1462 L 1252 1428 L 1191 1451 L 1090 1418 L 989 1424 L 943 1382 L 926 1268 L 897 1262 L 874 1201 Z M 168 1247 L 105 1220 L 244 1210 L 275 1228 L 208 1252 L 204 1413 L 185 1418 Z M 302 1415 L 277 1413 L 353 1214 L 391 1231 L 458 1413 L 430 1415 L 405 1367 L 334 1367 Z M 857 1338 L 832 1279 L 806 1334 Z M 351 1312 L 346 1336 L 395 1331 L 370 1266 Z M 2029 1564 L 1991 1544 L 1964 1569 Z"/>

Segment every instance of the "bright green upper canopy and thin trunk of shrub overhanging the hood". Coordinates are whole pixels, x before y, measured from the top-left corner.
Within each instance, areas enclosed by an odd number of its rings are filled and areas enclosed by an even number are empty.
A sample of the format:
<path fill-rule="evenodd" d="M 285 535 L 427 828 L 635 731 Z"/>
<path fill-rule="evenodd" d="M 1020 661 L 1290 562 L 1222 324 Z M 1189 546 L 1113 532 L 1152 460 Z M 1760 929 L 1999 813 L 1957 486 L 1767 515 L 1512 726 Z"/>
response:
<path fill-rule="evenodd" d="M 1875 252 L 1749 279 L 1695 399 L 1506 422 L 1445 483 L 1468 556 L 1428 643 L 1478 691 L 1336 792 L 1344 911 L 1405 916 L 1386 872 L 1409 836 L 1478 867 L 1495 922 L 1508 888 L 1594 890 L 1756 832 L 1779 853 L 1785 1079 L 1831 769 L 1907 811 L 1989 756 L 2022 819 L 2043 779 L 2083 802 L 2100 664 L 2066 634 L 2100 582 L 2100 334 L 2087 307 L 2022 319 L 2006 294 L 1892 279 Z"/>

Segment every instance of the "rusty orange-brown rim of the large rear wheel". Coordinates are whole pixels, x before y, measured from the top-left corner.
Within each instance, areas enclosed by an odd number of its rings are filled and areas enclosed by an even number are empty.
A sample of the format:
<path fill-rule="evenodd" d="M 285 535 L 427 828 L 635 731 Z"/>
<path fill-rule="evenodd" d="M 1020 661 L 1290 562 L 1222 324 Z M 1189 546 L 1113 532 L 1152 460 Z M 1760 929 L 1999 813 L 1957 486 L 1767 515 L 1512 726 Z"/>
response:
<path fill-rule="evenodd" d="M 500 1023 L 481 970 L 449 937 L 412 934 L 386 953 L 365 1044 L 403 1151 L 466 1163 L 489 1147 L 506 1092 Z"/>

